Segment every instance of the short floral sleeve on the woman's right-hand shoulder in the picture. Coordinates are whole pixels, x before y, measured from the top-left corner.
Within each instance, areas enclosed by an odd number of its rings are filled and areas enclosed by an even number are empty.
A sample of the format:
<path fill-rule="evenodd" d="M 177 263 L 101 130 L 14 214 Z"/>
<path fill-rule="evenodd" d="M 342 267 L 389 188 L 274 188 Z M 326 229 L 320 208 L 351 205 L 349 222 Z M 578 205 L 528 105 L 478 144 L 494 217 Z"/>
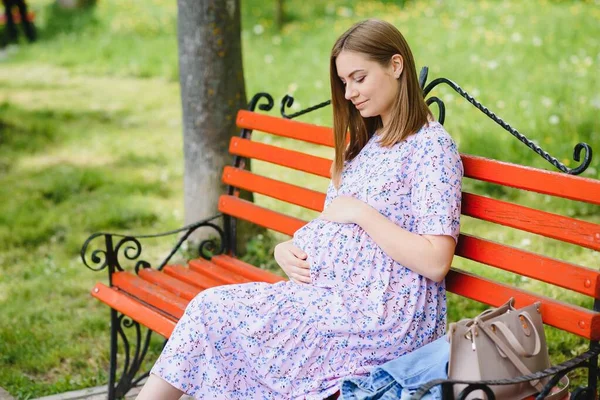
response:
<path fill-rule="evenodd" d="M 458 241 L 463 165 L 456 143 L 441 127 L 431 129 L 415 152 L 411 206 L 416 232 Z"/>

